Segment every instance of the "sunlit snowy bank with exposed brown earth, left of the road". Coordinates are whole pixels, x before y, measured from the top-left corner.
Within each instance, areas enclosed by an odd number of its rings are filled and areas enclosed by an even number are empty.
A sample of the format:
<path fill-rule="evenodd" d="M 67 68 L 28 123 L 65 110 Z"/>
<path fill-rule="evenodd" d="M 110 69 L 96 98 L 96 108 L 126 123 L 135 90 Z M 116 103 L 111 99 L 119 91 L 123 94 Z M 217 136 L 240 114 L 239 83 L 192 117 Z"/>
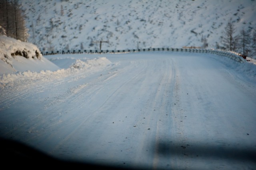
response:
<path fill-rule="evenodd" d="M 0 36 L 0 75 L 17 71 L 59 69 L 44 58 L 36 45 Z"/>

